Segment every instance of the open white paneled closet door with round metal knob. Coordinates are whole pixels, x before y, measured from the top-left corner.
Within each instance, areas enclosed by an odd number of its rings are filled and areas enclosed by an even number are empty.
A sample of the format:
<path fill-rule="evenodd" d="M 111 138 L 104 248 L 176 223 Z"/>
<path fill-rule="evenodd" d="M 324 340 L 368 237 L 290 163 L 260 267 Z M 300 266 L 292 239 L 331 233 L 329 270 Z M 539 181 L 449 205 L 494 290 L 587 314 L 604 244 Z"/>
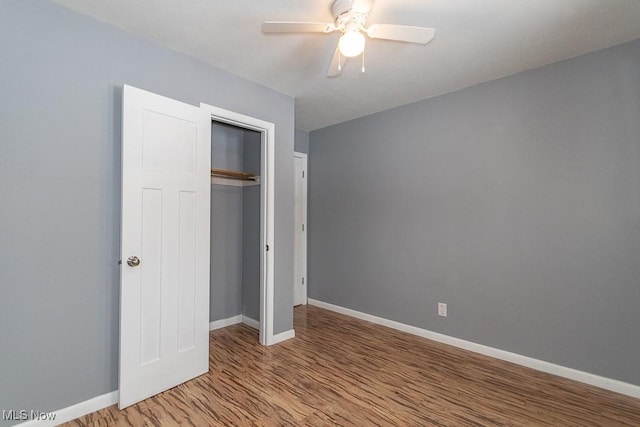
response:
<path fill-rule="evenodd" d="M 208 371 L 211 120 L 124 87 L 120 401 Z"/>

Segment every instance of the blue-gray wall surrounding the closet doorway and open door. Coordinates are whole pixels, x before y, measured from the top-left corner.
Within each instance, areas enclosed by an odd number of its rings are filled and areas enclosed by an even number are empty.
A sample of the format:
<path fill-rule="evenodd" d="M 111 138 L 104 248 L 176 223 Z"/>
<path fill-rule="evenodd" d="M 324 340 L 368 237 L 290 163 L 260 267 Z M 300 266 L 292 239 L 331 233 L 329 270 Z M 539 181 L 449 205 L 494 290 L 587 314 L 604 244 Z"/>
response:
<path fill-rule="evenodd" d="M 275 332 L 292 327 L 292 98 L 40 0 L 0 2 L 0 55 L 0 409 L 118 387 L 125 83 L 275 123 Z"/>

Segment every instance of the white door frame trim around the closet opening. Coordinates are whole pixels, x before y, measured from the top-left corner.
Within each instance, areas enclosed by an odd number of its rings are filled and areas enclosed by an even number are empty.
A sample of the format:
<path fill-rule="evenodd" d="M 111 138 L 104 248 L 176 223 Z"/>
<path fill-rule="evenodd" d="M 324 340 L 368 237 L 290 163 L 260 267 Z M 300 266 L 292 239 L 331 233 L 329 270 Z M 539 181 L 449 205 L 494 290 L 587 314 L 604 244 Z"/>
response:
<path fill-rule="evenodd" d="M 274 158 L 275 124 L 212 105 L 200 104 L 200 111 L 209 120 L 227 123 L 260 132 L 260 344 L 275 344 L 273 336 L 274 315 Z M 209 126 L 209 133 L 211 126 Z M 211 140 L 211 135 L 209 135 Z"/>

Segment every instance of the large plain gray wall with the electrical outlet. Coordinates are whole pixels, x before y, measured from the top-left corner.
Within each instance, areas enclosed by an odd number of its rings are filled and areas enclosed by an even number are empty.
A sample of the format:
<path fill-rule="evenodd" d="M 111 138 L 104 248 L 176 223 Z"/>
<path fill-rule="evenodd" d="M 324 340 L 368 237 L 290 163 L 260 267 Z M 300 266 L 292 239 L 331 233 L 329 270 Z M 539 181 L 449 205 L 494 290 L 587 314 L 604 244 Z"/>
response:
<path fill-rule="evenodd" d="M 639 76 L 636 41 L 311 132 L 309 296 L 640 385 Z"/>

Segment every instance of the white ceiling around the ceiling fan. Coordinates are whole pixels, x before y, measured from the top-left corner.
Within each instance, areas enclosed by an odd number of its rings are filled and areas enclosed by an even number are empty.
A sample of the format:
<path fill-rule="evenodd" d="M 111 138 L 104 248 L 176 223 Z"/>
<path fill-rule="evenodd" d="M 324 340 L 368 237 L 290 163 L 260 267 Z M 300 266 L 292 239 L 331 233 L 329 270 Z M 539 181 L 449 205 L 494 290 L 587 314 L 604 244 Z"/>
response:
<path fill-rule="evenodd" d="M 265 20 L 333 22 L 331 0 L 53 0 L 296 99 L 314 130 L 640 38 L 639 0 L 376 0 L 367 24 L 436 29 L 427 45 L 367 40 L 327 78 L 338 33 L 263 34 Z"/>

